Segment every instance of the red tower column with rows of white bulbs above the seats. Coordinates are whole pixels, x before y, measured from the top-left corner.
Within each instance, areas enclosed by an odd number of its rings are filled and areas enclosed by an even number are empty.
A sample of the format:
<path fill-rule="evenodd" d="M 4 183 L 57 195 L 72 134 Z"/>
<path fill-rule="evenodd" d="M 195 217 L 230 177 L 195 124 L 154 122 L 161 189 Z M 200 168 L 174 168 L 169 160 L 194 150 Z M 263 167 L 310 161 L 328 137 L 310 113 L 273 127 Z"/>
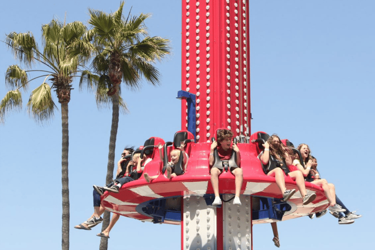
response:
<path fill-rule="evenodd" d="M 182 0 L 182 89 L 196 95 L 196 141 L 250 132 L 249 0 Z M 186 101 L 182 129 L 187 129 Z"/>

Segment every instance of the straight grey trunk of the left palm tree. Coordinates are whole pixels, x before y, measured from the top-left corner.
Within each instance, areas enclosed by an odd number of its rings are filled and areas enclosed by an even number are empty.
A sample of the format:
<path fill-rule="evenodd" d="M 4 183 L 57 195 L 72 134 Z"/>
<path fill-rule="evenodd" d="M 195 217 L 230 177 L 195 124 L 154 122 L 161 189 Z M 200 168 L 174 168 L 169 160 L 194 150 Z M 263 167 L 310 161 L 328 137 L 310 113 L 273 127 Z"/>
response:
<path fill-rule="evenodd" d="M 69 250 L 69 177 L 68 177 L 68 151 L 69 151 L 69 123 L 68 103 L 61 104 L 62 120 L 62 250 Z"/>

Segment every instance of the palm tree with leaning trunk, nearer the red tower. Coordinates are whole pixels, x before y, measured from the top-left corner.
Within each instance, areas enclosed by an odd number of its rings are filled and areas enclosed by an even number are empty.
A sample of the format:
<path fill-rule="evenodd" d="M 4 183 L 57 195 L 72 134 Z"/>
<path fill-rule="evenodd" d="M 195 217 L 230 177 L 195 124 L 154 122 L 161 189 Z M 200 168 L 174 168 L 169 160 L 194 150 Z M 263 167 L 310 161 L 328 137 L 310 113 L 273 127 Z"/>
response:
<path fill-rule="evenodd" d="M 169 54 L 167 39 L 147 36 L 145 20 L 149 16 L 140 14 L 132 18 L 128 16 L 125 20 L 122 14 L 123 7 L 124 2 L 121 2 L 119 9 L 112 14 L 89 9 L 88 22 L 92 26 L 90 34 L 93 36 L 96 54 L 92 67 L 100 78 L 95 78 L 86 71 L 81 79 L 81 83 L 97 83 L 99 102 L 112 103 L 106 183 L 113 178 L 119 109 L 122 104 L 120 85 L 123 82 L 130 89 L 137 89 L 141 86 L 143 78 L 152 85 L 158 84 L 159 71 L 154 62 L 161 61 Z M 108 90 L 106 99 L 100 94 L 104 89 Z M 103 229 L 108 224 L 109 212 L 106 212 Z M 107 249 L 107 239 L 102 238 L 100 249 Z"/>

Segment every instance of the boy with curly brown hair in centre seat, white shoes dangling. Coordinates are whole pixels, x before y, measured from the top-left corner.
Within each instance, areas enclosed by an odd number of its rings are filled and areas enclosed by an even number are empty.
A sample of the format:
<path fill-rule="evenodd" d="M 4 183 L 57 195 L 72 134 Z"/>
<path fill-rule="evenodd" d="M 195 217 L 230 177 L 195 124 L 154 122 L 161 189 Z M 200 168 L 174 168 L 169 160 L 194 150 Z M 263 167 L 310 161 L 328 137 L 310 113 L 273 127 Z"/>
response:
<path fill-rule="evenodd" d="M 214 150 L 217 148 L 217 152 L 219 155 L 220 160 L 229 160 L 232 154 L 232 150 L 236 153 L 236 164 L 238 167 L 231 167 L 230 172 L 235 176 L 235 194 L 234 194 L 234 205 L 242 205 L 240 201 L 240 192 L 242 187 L 243 175 L 242 175 L 242 168 L 240 167 L 241 164 L 241 156 L 240 156 L 240 149 L 236 144 L 233 143 L 231 146 L 231 141 L 233 138 L 233 132 L 229 129 L 221 129 L 217 132 L 217 141 L 213 141 L 210 148 L 209 154 L 209 166 L 210 174 L 211 174 L 211 184 L 213 188 L 213 192 L 215 194 L 215 200 L 212 203 L 212 206 L 220 206 L 222 204 L 220 196 L 219 196 L 219 175 L 222 173 L 223 169 L 219 169 L 217 167 L 212 167 L 214 163 Z"/>

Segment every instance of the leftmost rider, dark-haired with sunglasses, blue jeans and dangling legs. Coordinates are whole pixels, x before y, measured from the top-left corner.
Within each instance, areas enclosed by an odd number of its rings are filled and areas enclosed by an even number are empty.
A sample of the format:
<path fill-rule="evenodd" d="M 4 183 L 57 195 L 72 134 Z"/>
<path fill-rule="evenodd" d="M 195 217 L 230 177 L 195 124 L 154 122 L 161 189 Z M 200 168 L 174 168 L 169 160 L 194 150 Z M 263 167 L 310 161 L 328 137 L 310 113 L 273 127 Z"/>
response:
<path fill-rule="evenodd" d="M 124 157 L 126 155 L 131 154 L 133 151 L 134 151 L 133 147 L 128 147 L 124 149 L 123 153 L 121 154 L 121 159 L 117 163 L 116 176 L 118 176 L 121 173 L 121 171 L 125 170 L 126 167 L 130 164 L 130 162 L 127 159 L 124 159 Z M 94 191 L 92 195 L 93 195 L 93 203 L 94 203 L 94 213 L 85 222 L 75 226 L 74 227 L 75 229 L 91 230 L 91 228 L 95 227 L 96 225 L 100 224 L 103 221 L 103 218 L 101 217 L 101 215 L 104 213 L 105 209 L 100 204 L 101 202 L 100 197 L 103 195 L 105 190 L 103 187 L 98 187 L 95 185 L 93 187 L 94 187 Z M 112 228 L 116 224 L 119 217 L 120 216 L 118 214 L 113 214 L 108 227 L 111 226 Z"/>

